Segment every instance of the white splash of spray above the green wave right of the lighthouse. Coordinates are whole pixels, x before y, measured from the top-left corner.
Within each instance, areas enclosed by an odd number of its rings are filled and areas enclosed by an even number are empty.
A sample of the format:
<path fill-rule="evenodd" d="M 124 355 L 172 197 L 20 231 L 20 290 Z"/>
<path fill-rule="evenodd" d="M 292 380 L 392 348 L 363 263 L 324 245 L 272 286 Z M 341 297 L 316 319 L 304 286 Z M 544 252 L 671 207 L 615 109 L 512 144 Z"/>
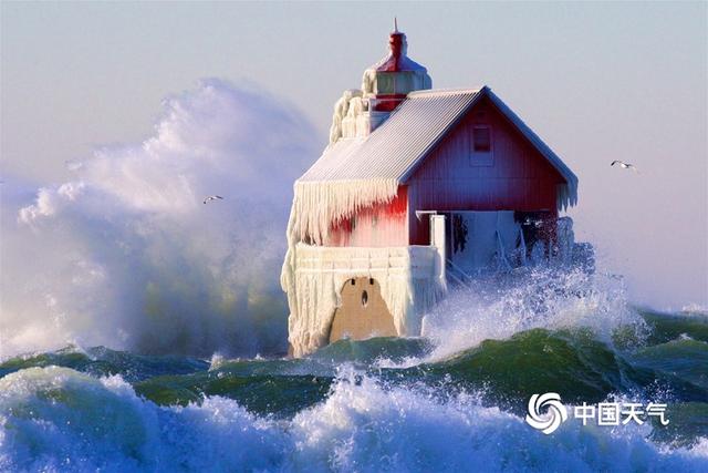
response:
<path fill-rule="evenodd" d="M 479 280 L 450 294 L 425 318 L 429 357 L 445 358 L 486 339 L 506 339 L 533 328 L 589 328 L 603 341 L 621 326 L 637 337 L 646 325 L 629 305 L 622 278 L 581 270 L 535 268 L 522 275 Z"/>

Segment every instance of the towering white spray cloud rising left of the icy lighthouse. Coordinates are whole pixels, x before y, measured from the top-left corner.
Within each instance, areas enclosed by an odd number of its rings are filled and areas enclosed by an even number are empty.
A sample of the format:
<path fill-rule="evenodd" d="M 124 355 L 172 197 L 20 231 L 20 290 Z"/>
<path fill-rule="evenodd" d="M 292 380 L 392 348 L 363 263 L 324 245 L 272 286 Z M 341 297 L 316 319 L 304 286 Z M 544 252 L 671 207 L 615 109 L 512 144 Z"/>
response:
<path fill-rule="evenodd" d="M 71 182 L 6 183 L 0 356 L 285 350 L 278 275 L 314 136 L 282 101 L 205 80 L 166 99 L 142 143 L 71 163 Z M 212 194 L 225 198 L 202 204 Z"/>

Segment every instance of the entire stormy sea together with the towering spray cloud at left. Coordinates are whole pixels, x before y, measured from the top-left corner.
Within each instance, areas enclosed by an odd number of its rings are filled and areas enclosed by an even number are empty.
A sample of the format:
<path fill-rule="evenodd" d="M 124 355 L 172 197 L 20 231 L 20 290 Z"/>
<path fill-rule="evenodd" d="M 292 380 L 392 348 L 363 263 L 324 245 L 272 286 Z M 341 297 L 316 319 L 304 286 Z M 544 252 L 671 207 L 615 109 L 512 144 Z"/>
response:
<path fill-rule="evenodd" d="M 708 316 L 634 307 L 614 275 L 490 276 L 421 338 L 280 358 L 283 189 L 313 135 L 209 80 L 75 179 L 3 185 L 0 471 L 707 470 Z M 666 402 L 670 424 L 544 435 L 543 392 Z"/>

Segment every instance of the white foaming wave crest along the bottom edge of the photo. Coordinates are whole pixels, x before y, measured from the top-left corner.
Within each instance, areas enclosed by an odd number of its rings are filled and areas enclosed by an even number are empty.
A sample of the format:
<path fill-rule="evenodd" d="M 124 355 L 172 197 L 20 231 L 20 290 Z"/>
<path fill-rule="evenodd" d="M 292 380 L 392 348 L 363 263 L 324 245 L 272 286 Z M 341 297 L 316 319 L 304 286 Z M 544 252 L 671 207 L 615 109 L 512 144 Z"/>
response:
<path fill-rule="evenodd" d="M 159 408 L 118 377 L 32 368 L 0 379 L 0 471 L 705 471 L 708 440 L 675 448 L 646 426 L 544 435 L 460 394 L 343 376 L 292 420 L 237 402 Z"/>

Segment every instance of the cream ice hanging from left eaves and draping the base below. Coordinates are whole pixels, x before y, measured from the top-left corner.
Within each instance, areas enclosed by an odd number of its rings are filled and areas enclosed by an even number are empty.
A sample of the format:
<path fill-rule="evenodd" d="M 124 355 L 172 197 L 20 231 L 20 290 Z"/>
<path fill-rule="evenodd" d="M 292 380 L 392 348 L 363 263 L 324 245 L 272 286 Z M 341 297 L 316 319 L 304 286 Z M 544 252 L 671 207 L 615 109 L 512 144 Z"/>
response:
<path fill-rule="evenodd" d="M 295 182 L 288 223 L 288 254 L 281 274 L 290 306 L 288 326 L 293 356 L 306 354 L 327 343 L 334 310 L 341 302 L 340 290 L 352 277 L 376 278 L 398 335 L 419 331 L 419 321 L 415 320 L 419 310 L 430 307 L 444 290 L 439 281 L 430 279 L 435 268 L 435 253 L 430 248 L 314 246 L 326 241 L 333 224 L 362 208 L 388 203 L 397 192 L 396 179 Z M 416 263 L 412 263 L 414 259 Z M 414 265 L 424 268 L 414 275 Z M 416 313 L 410 310 L 414 301 Z"/>

